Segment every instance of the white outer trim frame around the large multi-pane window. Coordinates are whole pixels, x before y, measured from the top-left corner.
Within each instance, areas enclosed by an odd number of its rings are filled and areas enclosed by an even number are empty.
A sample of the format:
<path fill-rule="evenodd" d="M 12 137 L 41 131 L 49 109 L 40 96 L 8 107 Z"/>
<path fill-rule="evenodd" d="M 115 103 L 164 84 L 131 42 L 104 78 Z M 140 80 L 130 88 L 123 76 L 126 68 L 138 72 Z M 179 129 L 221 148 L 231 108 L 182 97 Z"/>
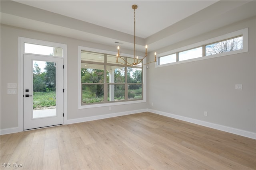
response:
<path fill-rule="evenodd" d="M 90 51 L 90 52 L 95 52 L 95 53 L 103 53 L 103 54 L 108 54 L 108 55 L 116 55 L 116 51 L 106 51 L 106 50 L 101 50 L 101 49 L 94 49 L 90 47 L 82 47 L 78 46 L 78 109 L 86 109 L 86 108 L 93 108 L 93 107 L 107 107 L 107 106 L 116 106 L 116 105 L 123 105 L 123 104 L 137 104 L 137 103 L 143 103 L 146 102 L 146 67 L 142 67 L 142 99 L 140 100 L 122 100 L 122 101 L 106 101 L 104 103 L 93 103 L 93 104 L 85 104 L 82 105 L 82 86 L 81 86 L 81 51 Z M 129 54 L 122 54 L 126 57 L 132 57 L 133 55 Z M 139 57 L 142 59 L 141 57 Z M 104 64 L 104 63 L 102 63 Z M 106 63 L 106 65 L 108 65 Z M 109 64 L 112 65 L 112 64 Z M 119 65 L 120 66 L 120 65 Z M 106 74 L 106 73 L 105 73 Z M 107 84 L 116 84 L 116 83 L 108 83 L 104 82 Z M 128 93 L 128 91 L 127 91 Z M 104 96 L 105 98 L 105 96 Z"/>

